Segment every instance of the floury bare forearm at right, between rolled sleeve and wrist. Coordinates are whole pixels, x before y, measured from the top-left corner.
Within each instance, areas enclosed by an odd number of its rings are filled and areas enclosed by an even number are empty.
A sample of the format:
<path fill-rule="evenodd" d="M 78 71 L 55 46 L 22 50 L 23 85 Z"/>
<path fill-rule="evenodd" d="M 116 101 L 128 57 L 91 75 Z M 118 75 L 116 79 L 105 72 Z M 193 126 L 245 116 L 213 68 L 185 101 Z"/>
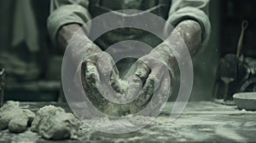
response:
<path fill-rule="evenodd" d="M 201 35 L 201 25 L 197 21 L 183 20 L 175 27 L 171 35 L 167 37 L 166 41 L 160 43 L 160 45 L 152 52 L 157 51 L 163 55 L 162 57 L 169 63 L 175 62 L 173 60 L 177 59 L 176 56 L 183 56 L 182 50 L 179 50 L 179 53 L 176 53 L 174 49 L 189 49 L 189 54 L 193 56 L 201 48 Z M 166 43 L 169 43 L 172 47 L 169 47 Z"/>

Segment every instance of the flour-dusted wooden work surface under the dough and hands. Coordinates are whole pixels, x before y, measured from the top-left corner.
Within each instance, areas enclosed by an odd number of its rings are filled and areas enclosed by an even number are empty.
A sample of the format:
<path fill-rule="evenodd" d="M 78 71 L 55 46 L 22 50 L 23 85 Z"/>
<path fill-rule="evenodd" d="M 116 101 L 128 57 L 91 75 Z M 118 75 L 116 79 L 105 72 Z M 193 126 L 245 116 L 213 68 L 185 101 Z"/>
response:
<path fill-rule="evenodd" d="M 46 105 L 61 106 L 70 112 L 67 104 L 23 102 L 23 108 L 37 112 Z M 129 134 L 105 134 L 89 128 L 79 130 L 79 139 L 59 142 L 255 142 L 256 112 L 222 106 L 212 102 L 189 102 L 176 121 L 168 113 L 173 103 L 168 103 L 160 117 L 143 129 Z M 22 134 L 0 131 L 0 142 L 57 142 L 44 140 L 27 129 Z"/>

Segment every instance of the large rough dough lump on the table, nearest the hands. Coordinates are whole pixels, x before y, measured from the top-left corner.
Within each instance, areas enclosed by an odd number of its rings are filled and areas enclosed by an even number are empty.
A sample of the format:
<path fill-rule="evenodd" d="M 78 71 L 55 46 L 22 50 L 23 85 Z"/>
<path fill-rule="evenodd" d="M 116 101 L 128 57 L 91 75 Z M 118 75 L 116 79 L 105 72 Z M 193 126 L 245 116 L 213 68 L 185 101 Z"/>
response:
<path fill-rule="evenodd" d="M 45 139 L 64 140 L 76 139 L 79 126 L 79 120 L 61 107 L 44 106 L 36 113 L 31 130 Z"/>

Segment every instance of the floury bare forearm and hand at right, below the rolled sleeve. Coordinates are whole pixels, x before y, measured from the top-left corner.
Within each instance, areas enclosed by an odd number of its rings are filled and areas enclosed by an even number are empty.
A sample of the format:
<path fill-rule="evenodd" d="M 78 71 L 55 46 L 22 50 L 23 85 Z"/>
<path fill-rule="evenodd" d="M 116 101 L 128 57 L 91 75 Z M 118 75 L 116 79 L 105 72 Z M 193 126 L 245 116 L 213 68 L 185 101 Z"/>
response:
<path fill-rule="evenodd" d="M 175 78 L 178 74 L 177 60 L 187 58 L 183 56 L 183 52 L 185 53 L 183 50 L 188 48 L 190 54 L 196 54 L 201 47 L 201 42 L 202 31 L 199 22 L 183 20 L 172 31 L 165 43 L 161 43 L 150 54 L 137 60 L 126 76 L 126 78 L 130 77 L 128 94 L 133 96 L 138 94 L 139 97 L 133 101 L 132 106 L 136 108 L 131 112 L 137 112 L 148 104 L 148 100 L 151 100 L 154 94 L 163 98 L 168 96 L 171 92 L 171 78 L 172 87 L 176 87 L 178 83 L 178 79 Z M 161 101 L 164 102 L 163 99 L 153 102 L 160 106 Z"/>

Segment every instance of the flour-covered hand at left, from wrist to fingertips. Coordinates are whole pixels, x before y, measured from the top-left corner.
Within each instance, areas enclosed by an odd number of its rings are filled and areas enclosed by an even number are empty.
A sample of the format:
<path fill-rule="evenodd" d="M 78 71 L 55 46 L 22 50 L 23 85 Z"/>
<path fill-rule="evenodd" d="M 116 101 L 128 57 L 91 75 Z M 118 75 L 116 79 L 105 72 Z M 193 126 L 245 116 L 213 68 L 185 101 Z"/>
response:
<path fill-rule="evenodd" d="M 103 106 L 107 104 L 103 94 L 120 92 L 119 72 L 111 55 L 103 52 L 94 43 L 88 46 L 90 48 L 84 54 L 81 66 L 82 84 L 90 101 L 94 105 Z"/>

